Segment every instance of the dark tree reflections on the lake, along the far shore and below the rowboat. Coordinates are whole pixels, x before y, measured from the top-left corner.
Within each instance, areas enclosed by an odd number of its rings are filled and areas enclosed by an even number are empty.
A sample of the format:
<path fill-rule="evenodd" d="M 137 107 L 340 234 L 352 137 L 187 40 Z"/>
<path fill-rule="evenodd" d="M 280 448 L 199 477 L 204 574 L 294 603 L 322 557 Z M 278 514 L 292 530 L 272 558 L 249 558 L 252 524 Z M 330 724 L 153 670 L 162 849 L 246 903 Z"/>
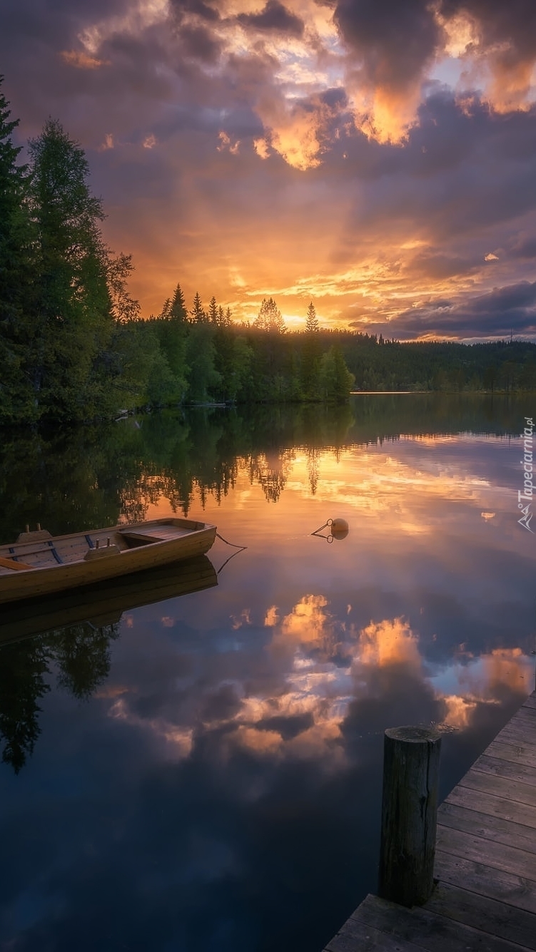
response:
<path fill-rule="evenodd" d="M 219 503 L 245 470 L 277 503 L 296 454 L 307 459 L 311 495 L 322 481 L 321 451 L 397 440 L 405 434 L 517 432 L 517 398 L 447 393 L 360 395 L 342 407 L 207 407 L 155 413 L 102 426 L 5 433 L 0 448 L 1 538 L 26 523 L 52 534 L 144 519 L 167 500 L 188 515 L 196 498 Z M 86 700 L 109 673 L 117 625 L 54 629 L 0 648 L 2 758 L 18 772 L 39 736 L 39 701 L 57 684 Z"/>

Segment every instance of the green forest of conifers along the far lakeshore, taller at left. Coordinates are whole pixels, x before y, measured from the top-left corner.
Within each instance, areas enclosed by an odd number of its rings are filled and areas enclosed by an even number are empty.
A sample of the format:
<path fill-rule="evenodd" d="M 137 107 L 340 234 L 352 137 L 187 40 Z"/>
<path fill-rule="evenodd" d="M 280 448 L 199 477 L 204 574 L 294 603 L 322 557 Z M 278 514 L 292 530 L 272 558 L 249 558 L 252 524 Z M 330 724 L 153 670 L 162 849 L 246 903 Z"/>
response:
<path fill-rule="evenodd" d="M 0 77 L 0 83 L 3 77 Z M 179 283 L 158 315 L 129 294 L 129 254 L 103 240 L 84 150 L 49 119 L 13 144 L 0 88 L 0 425 L 89 422 L 136 408 L 344 403 L 356 390 L 536 388 L 536 345 L 400 343 L 321 327 L 311 301 L 289 331 L 276 302 L 252 324 Z"/>

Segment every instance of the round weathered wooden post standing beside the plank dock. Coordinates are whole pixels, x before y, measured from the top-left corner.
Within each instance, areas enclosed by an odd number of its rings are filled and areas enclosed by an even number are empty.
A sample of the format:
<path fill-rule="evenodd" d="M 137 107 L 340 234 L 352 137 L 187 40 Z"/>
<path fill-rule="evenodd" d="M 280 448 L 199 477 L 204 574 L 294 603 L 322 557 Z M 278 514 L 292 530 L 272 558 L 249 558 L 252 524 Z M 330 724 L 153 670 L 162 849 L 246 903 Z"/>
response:
<path fill-rule="evenodd" d="M 441 734 L 428 727 L 389 727 L 378 895 L 423 905 L 433 889 Z"/>

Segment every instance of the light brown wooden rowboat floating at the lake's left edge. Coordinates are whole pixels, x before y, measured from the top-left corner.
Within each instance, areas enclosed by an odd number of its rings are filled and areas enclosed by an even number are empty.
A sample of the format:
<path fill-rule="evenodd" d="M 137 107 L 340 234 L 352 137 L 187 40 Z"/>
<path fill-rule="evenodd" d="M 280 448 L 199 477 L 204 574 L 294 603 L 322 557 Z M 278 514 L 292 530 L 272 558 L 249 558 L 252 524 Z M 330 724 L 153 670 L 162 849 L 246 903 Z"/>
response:
<path fill-rule="evenodd" d="M 12 545 L 0 545 L 0 604 L 192 559 L 208 552 L 215 535 L 216 526 L 189 519 L 154 519 L 64 536 L 40 527 L 22 532 Z"/>

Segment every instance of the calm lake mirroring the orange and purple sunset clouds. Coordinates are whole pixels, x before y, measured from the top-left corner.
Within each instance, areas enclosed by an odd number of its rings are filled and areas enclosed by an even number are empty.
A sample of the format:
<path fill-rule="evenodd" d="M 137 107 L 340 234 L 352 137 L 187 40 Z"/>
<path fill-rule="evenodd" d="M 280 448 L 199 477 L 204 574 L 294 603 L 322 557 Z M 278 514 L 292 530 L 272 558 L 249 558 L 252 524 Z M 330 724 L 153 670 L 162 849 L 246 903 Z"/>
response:
<path fill-rule="evenodd" d="M 0 612 L 0 948 L 320 952 L 376 889 L 385 728 L 442 725 L 443 799 L 533 689 L 535 410 L 357 395 L 3 433 L 0 542 L 188 512 L 248 547 Z M 311 535 L 335 517 L 346 539 Z"/>

